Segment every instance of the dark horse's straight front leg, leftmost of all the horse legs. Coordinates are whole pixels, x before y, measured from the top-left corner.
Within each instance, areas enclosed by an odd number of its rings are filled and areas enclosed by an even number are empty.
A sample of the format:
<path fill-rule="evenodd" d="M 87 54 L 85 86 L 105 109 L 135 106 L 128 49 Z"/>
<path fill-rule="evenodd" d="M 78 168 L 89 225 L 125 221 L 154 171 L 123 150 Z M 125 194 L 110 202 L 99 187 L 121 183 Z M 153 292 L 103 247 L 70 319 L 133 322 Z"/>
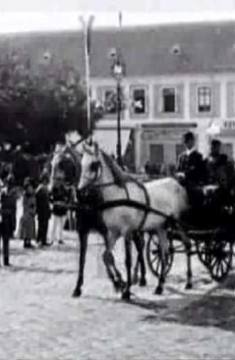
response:
<path fill-rule="evenodd" d="M 82 294 L 83 276 L 85 268 L 85 256 L 88 248 L 88 231 L 79 231 L 80 240 L 80 255 L 79 255 L 79 268 L 78 268 L 78 280 L 73 291 L 73 297 L 79 297 Z"/>

